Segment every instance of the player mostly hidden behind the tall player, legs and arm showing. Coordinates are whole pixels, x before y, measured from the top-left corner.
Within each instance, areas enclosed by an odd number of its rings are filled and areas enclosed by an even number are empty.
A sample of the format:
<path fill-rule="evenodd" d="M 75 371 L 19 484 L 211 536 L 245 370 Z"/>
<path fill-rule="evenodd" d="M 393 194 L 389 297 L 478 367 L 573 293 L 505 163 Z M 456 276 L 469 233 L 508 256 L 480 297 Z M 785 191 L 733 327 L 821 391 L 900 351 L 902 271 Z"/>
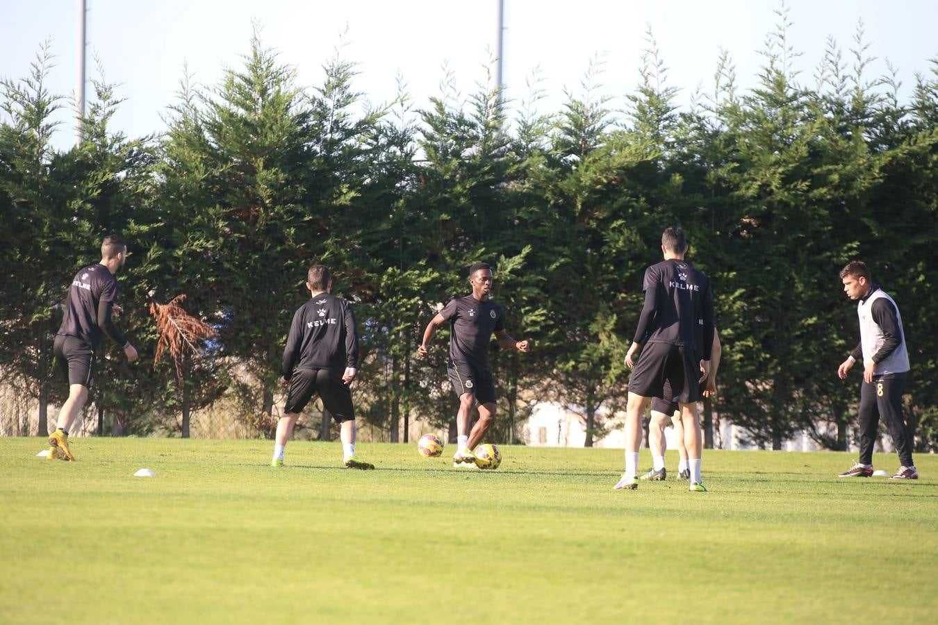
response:
<path fill-rule="evenodd" d="M 719 355 L 722 347 L 719 344 L 717 329 L 713 331 L 713 347 L 710 350 L 710 373 L 701 384 L 701 394 L 704 397 L 713 397 L 717 394 L 717 369 Z M 648 469 L 641 479 L 650 481 L 663 481 L 668 477 L 664 468 L 664 449 L 666 440 L 664 428 L 671 422 L 674 426 L 674 439 L 677 441 L 677 454 L 680 460 L 677 464 L 677 476 L 682 480 L 690 479 L 688 464 L 688 448 L 684 444 L 684 425 L 681 423 L 681 411 L 677 402 L 673 400 L 671 384 L 664 382 L 664 398 L 651 398 L 651 422 L 648 424 L 648 447 L 651 449 L 652 468 Z"/>

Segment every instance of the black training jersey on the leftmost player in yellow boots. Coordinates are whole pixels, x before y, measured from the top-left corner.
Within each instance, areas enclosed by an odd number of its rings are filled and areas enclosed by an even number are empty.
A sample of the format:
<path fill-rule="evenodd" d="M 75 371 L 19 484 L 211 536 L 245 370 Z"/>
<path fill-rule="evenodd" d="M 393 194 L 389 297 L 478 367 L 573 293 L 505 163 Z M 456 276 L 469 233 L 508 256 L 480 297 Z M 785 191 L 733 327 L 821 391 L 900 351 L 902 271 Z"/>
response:
<path fill-rule="evenodd" d="M 117 280 L 107 267 L 99 262 L 83 267 L 68 287 L 65 302 L 65 318 L 58 334 L 76 336 L 97 350 L 104 334 L 98 320 L 98 309 L 102 302 L 113 304 L 117 297 Z M 108 307 L 110 312 L 110 307 Z M 110 321 L 110 315 L 108 316 Z M 120 342 L 117 335 L 114 340 Z"/>

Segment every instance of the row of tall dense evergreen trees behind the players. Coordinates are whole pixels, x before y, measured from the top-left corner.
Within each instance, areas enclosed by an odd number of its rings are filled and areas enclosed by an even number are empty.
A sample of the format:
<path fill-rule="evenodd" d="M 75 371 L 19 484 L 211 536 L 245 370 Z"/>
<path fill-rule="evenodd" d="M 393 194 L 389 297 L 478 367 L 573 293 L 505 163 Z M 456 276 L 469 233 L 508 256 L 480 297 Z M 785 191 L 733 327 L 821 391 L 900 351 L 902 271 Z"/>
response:
<path fill-rule="evenodd" d="M 25 78 L 2 82 L 2 381 L 38 397 L 43 429 L 67 391 L 52 366 L 58 303 L 116 231 L 131 252 L 120 323 L 143 364 L 102 346 L 92 400 L 124 432 L 189 436 L 193 410 L 222 394 L 263 431 L 306 268 L 323 262 L 356 305 L 356 408 L 397 440 L 408 420 L 451 421 L 445 340 L 427 359 L 416 346 L 435 306 L 467 292 L 469 265 L 487 260 L 509 332 L 534 340 L 525 357 L 493 354 L 497 438 L 513 440 L 539 398 L 579 411 L 591 445 L 626 398 L 643 269 L 679 225 L 714 284 L 724 346 L 708 421 L 717 411 L 774 449 L 799 430 L 845 448 L 859 379 L 836 371 L 859 335 L 838 272 L 862 259 L 900 305 L 906 409 L 917 447 L 933 450 L 938 61 L 900 101 L 894 77 L 867 76 L 858 31 L 852 61 L 831 41 L 805 81 L 781 17 L 757 87 L 738 90 L 723 54 L 688 110 L 650 33 L 628 111 L 598 95 L 594 66 L 551 114 L 537 112 L 537 89 L 519 103 L 485 89 L 462 99 L 451 80 L 425 106 L 401 86 L 369 108 L 355 64 L 337 55 L 304 89 L 255 36 L 219 84 L 184 78 L 159 137 L 113 129 L 121 101 L 101 78 L 68 150 L 51 143 L 65 100 L 45 85 L 44 47 Z M 219 336 L 177 376 L 148 364 L 147 304 L 180 293 Z"/>

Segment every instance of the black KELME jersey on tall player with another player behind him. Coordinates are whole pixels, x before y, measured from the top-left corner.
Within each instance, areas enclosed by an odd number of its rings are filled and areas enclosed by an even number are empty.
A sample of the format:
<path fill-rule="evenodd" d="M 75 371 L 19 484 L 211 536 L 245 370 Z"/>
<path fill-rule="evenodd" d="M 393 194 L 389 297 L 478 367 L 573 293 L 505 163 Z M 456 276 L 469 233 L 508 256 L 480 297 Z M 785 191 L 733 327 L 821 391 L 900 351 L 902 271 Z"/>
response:
<path fill-rule="evenodd" d="M 645 304 L 635 342 L 691 347 L 710 359 L 713 291 L 710 280 L 687 260 L 662 260 L 645 270 Z"/>

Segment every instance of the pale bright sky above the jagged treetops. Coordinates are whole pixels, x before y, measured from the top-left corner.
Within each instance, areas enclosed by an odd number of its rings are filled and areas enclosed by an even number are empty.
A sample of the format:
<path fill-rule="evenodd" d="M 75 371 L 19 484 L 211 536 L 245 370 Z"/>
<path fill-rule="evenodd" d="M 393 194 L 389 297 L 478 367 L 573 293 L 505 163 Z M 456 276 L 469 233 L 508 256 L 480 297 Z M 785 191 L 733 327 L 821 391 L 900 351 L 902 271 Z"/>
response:
<path fill-rule="evenodd" d="M 639 81 L 648 24 L 682 104 L 698 86 L 711 87 L 720 48 L 731 53 L 739 86 L 751 87 L 779 6 L 756 0 L 506 0 L 507 97 L 516 104 L 527 97 L 525 82 L 539 68 L 548 97 L 538 108 L 558 112 L 564 89 L 582 93 L 582 76 L 600 55 L 600 91 L 613 97 L 610 107 L 624 108 Z M 934 0 L 789 0 L 786 6 L 794 22 L 791 43 L 804 53 L 794 65 L 806 85 L 814 84 L 828 36 L 837 39 L 843 61 L 853 62 L 849 50 L 860 19 L 868 54 L 878 57 L 869 78 L 885 73 L 889 59 L 899 67 L 901 97 L 911 93 L 915 72 L 929 72 L 929 59 L 938 57 Z M 68 147 L 73 137 L 78 7 L 78 0 L 0 0 L 0 77 L 25 77 L 40 44 L 52 42 L 56 67 L 48 86 L 69 98 L 57 117 L 63 122 L 58 147 Z M 108 81 L 120 84 L 117 96 L 127 98 L 114 126 L 139 137 L 165 129 L 161 116 L 174 102 L 184 63 L 196 82 L 209 86 L 219 82 L 224 67 L 240 65 L 252 19 L 262 24 L 265 45 L 296 67 L 301 85 L 321 82 L 323 63 L 344 39 L 342 57 L 359 64 L 355 87 L 371 101 L 393 99 L 400 73 L 415 105 L 428 106 L 428 98 L 440 93 L 445 64 L 468 95 L 486 82 L 496 7 L 497 0 L 88 0 L 88 45 Z M 88 74 L 97 76 L 90 54 Z"/>

